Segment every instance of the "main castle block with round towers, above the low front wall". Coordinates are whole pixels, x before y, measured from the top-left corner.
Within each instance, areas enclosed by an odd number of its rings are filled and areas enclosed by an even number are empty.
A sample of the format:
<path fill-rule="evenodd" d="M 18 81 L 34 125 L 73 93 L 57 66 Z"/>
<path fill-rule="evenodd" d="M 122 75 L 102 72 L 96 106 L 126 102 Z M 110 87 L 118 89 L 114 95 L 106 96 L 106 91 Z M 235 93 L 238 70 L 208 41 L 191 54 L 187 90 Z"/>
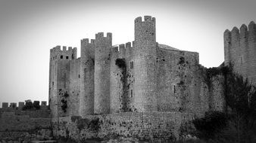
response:
<path fill-rule="evenodd" d="M 155 17 L 137 17 L 133 42 L 112 46 L 99 32 L 76 47 L 51 49 L 49 105 L 53 117 L 120 112 L 223 110 L 221 77 L 209 87 L 198 53 L 156 41 Z"/>

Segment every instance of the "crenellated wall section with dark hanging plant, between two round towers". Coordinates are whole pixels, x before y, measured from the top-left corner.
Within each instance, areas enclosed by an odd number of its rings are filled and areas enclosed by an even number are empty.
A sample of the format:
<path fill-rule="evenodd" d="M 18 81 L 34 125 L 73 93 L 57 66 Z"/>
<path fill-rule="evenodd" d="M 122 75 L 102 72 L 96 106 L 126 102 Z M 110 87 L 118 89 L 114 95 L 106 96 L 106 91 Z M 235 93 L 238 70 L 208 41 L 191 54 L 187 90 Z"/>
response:
<path fill-rule="evenodd" d="M 118 59 L 123 65 L 117 64 Z M 110 112 L 134 111 L 133 47 L 130 42 L 111 48 L 110 67 Z"/>

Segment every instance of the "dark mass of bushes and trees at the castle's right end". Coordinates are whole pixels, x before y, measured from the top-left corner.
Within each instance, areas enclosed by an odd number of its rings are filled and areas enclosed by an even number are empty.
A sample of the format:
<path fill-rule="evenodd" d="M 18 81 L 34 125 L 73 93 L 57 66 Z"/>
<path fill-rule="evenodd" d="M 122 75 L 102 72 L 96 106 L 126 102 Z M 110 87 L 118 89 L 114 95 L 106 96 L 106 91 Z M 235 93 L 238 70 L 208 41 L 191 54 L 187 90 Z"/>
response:
<path fill-rule="evenodd" d="M 256 142 L 256 87 L 248 79 L 233 72 L 232 67 L 211 68 L 214 76 L 224 75 L 226 113 L 208 112 L 193 121 L 196 136 L 211 142 Z"/>

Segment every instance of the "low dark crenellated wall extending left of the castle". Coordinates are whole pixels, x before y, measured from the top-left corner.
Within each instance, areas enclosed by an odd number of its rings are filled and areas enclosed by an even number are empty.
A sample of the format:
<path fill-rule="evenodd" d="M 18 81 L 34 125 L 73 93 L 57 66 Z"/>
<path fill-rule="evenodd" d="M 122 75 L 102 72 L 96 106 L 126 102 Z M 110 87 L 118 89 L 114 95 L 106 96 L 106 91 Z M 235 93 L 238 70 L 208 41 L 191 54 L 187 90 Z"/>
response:
<path fill-rule="evenodd" d="M 2 103 L 0 108 L 0 141 L 28 142 L 52 139 L 51 111 L 46 102 L 39 110 L 22 110 L 24 102 Z"/>

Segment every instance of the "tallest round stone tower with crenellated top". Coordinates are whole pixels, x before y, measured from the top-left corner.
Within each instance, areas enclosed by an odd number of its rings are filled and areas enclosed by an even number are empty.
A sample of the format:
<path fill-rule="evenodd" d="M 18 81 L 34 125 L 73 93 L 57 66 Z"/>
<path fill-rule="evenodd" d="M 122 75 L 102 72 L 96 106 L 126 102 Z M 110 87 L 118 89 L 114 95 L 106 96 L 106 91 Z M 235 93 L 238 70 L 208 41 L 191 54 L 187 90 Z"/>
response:
<path fill-rule="evenodd" d="M 134 105 L 137 111 L 157 111 L 155 17 L 137 17 L 134 41 Z"/>

